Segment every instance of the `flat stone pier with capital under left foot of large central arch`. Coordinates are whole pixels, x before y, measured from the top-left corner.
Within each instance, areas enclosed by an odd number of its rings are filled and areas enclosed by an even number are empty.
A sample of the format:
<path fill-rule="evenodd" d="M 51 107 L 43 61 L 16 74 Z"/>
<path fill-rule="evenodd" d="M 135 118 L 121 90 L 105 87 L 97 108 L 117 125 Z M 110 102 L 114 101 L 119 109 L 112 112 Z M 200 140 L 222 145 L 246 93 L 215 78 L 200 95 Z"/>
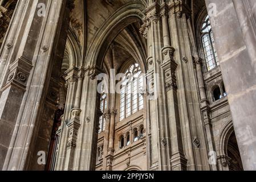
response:
<path fill-rule="evenodd" d="M 97 93 L 96 76 L 103 71 L 94 66 L 86 68 L 84 77 L 82 100 L 81 126 L 76 145 L 74 169 L 90 171 L 95 169 L 97 135 L 100 117 L 100 95 Z M 102 113 L 101 113 L 102 114 Z"/>

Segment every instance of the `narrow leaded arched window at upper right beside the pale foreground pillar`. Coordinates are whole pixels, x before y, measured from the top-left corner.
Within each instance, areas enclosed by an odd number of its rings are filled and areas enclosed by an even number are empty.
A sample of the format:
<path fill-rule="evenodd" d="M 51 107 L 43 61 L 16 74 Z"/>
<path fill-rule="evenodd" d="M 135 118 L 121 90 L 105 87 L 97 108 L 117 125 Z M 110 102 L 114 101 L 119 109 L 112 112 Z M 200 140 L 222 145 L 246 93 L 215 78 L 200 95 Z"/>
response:
<path fill-rule="evenodd" d="M 209 15 L 206 16 L 201 27 L 201 41 L 204 48 L 204 55 L 208 71 L 220 65 L 213 38 L 212 27 L 210 26 Z"/>

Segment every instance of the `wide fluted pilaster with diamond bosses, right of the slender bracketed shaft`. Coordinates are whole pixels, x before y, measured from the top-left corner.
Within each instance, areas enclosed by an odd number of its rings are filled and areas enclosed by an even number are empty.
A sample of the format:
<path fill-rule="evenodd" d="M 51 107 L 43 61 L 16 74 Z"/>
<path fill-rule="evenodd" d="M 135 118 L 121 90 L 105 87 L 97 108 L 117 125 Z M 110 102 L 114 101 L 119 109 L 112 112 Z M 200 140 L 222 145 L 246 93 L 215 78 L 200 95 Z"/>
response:
<path fill-rule="evenodd" d="M 176 69 L 178 110 L 182 113 L 181 131 L 184 154 L 189 170 L 209 169 L 207 144 L 200 111 L 200 98 L 196 72 L 194 72 L 193 49 L 189 36 L 190 9 L 184 1 L 172 2 L 169 6 L 169 25 L 172 47 L 176 49 L 174 60 Z"/>

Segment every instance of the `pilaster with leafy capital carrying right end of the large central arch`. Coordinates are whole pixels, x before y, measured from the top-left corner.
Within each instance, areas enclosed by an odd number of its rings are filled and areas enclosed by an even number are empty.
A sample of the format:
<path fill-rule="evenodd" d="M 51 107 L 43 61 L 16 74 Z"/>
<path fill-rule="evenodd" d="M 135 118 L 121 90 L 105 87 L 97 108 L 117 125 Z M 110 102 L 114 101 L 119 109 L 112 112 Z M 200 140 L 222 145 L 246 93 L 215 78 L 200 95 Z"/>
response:
<path fill-rule="evenodd" d="M 164 102 L 164 84 L 162 82 L 162 71 L 160 64 L 162 63 L 161 45 L 162 32 L 160 20 L 160 6 L 158 2 L 154 2 L 145 11 L 147 14 L 144 24 L 141 27 L 141 33 L 148 38 L 148 72 L 147 72 L 147 90 L 148 95 L 148 147 L 150 151 L 150 165 L 152 170 L 168 170 L 168 125 L 165 113 L 166 105 Z M 169 44 L 168 26 L 164 27 L 164 43 Z M 154 122 L 151 122 L 154 121 Z"/>

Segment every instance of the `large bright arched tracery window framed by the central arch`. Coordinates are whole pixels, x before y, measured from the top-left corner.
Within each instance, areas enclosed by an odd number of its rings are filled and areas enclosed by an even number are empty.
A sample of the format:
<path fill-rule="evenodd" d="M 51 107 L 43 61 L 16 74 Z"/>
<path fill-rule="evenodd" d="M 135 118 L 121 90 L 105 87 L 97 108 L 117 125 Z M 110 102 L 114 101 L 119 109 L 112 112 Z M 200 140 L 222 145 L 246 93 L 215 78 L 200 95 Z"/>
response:
<path fill-rule="evenodd" d="M 139 64 L 132 64 L 125 72 L 126 78 L 120 93 L 120 121 L 143 109 L 143 77 Z"/>

